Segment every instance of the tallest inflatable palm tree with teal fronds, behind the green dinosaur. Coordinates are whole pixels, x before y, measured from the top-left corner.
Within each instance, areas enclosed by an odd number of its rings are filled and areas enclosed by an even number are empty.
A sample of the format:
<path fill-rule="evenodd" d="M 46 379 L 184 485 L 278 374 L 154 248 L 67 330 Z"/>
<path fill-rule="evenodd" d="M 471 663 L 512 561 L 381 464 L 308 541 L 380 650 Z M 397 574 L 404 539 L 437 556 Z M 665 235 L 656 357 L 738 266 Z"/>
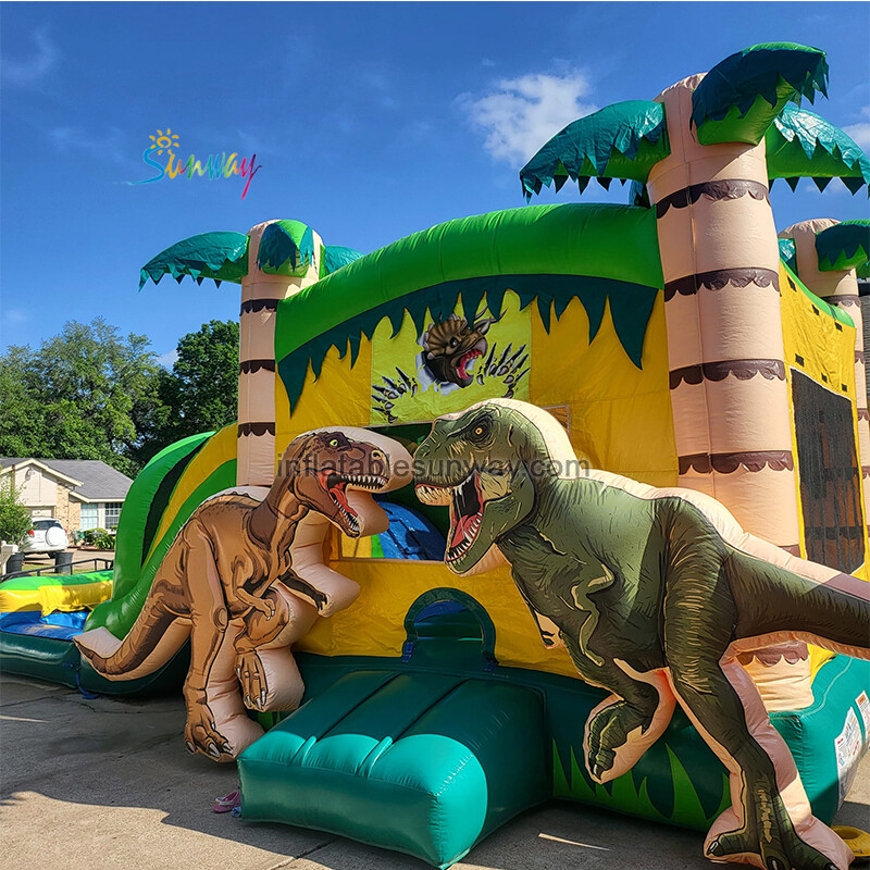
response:
<path fill-rule="evenodd" d="M 753 46 L 655 101 L 570 124 L 521 170 L 527 198 L 568 178 L 635 183 L 656 209 L 671 406 L 683 486 L 714 495 L 748 531 L 798 550 L 794 458 L 770 184 L 870 188 L 845 133 L 791 103 L 826 96 L 818 49 Z"/>

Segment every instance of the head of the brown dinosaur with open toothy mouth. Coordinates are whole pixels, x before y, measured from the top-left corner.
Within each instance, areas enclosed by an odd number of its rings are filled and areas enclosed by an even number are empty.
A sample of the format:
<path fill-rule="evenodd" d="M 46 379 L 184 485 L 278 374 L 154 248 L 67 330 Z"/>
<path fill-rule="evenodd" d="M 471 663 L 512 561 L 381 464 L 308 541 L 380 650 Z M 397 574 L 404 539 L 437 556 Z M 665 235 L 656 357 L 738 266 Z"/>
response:
<path fill-rule="evenodd" d="M 411 457 L 398 442 L 368 430 L 315 430 L 290 442 L 278 477 L 299 502 L 360 537 L 386 529 L 386 514 L 371 496 L 408 483 Z"/>

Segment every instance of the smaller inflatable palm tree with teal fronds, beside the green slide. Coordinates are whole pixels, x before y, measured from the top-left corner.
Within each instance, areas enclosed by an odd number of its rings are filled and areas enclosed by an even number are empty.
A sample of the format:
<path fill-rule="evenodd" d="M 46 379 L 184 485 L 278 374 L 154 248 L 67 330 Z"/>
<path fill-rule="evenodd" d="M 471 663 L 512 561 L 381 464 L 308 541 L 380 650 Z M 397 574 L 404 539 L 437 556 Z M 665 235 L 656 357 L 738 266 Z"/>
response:
<path fill-rule="evenodd" d="M 203 233 L 184 239 L 142 266 L 139 289 L 163 275 L 241 285 L 239 314 L 239 486 L 270 486 L 275 476 L 275 312 L 278 302 L 359 257 L 324 247 L 299 221 L 266 221 L 247 235 Z"/>

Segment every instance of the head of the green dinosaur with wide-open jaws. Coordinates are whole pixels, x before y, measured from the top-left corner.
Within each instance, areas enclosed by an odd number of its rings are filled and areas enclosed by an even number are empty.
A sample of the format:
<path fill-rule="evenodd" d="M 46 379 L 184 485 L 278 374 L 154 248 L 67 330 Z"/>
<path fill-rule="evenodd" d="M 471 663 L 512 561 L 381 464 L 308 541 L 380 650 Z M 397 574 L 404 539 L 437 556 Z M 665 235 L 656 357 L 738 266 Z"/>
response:
<path fill-rule="evenodd" d="M 421 501 L 450 506 L 448 568 L 472 571 L 572 461 L 564 430 L 533 405 L 492 399 L 438 418 L 414 453 L 414 483 Z"/>

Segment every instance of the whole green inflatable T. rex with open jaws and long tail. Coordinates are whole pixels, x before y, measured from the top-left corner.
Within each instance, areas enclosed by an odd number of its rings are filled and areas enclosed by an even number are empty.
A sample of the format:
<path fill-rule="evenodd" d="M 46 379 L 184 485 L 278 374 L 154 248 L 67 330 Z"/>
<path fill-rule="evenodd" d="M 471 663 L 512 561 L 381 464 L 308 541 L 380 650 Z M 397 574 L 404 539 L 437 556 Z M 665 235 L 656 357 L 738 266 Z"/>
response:
<path fill-rule="evenodd" d="M 596 782 L 630 770 L 679 703 L 731 778 L 709 858 L 848 866 L 737 657 L 797 641 L 870 658 L 870 584 L 744 533 L 708 496 L 584 469 L 558 422 L 523 402 L 439 418 L 414 472 L 421 500 L 450 506 L 450 570 L 506 559 L 545 642 L 555 624 L 580 675 L 612 693 L 585 728 Z"/>

